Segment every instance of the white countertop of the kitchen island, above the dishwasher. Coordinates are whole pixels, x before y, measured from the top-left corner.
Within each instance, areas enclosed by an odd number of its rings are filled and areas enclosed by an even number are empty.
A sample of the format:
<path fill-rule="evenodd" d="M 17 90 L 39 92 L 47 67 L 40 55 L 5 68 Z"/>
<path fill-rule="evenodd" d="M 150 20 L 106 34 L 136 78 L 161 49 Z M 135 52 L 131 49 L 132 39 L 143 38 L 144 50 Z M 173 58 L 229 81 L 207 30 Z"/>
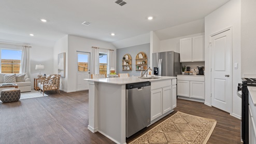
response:
<path fill-rule="evenodd" d="M 84 79 L 94 82 L 110 83 L 110 84 L 127 84 L 127 83 L 136 83 L 136 82 L 145 82 L 145 81 L 160 81 L 167 79 L 175 79 L 177 77 L 155 77 L 160 79 L 143 79 L 138 77 L 127 77 L 127 78 L 102 78 L 102 79 Z"/>

